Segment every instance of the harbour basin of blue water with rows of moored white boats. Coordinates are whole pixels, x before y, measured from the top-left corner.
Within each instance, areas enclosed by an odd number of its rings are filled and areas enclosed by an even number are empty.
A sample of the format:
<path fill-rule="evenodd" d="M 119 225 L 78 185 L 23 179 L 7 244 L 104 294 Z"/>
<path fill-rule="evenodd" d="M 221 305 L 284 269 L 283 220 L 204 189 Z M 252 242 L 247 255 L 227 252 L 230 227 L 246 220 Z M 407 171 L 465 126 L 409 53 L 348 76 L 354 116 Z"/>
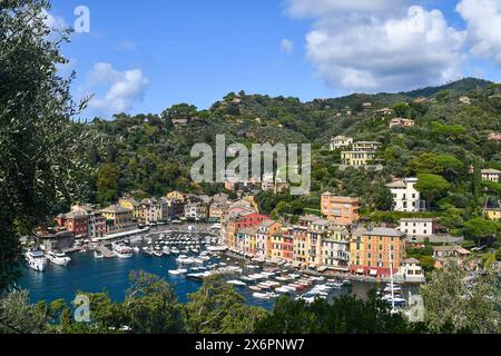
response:
<path fill-rule="evenodd" d="M 92 245 L 91 245 L 92 246 Z M 70 257 L 59 254 L 67 263 L 47 265 L 47 258 L 36 254 L 43 271 L 26 268 L 20 286 L 31 291 L 32 300 L 66 299 L 71 301 L 78 290 L 108 291 L 119 301 L 128 288 L 128 274 L 145 270 L 169 281 L 181 303 L 195 293 L 207 277 L 219 275 L 243 295 L 250 305 L 271 309 L 277 297 L 312 303 L 315 298 L 334 298 L 354 294 L 365 298 L 375 286 L 366 281 L 350 281 L 330 276 L 313 276 L 284 266 L 250 264 L 225 254 L 226 247 L 210 234 L 165 231 L 135 236 L 109 245 L 97 245 L 92 250 L 76 253 Z M 58 256 L 57 254 L 55 256 Z M 40 267 L 38 267 L 40 268 Z M 403 287 L 394 287 L 391 299 L 389 287 L 382 288 L 384 300 L 404 304 Z M 390 295 L 390 296 L 389 296 Z"/>

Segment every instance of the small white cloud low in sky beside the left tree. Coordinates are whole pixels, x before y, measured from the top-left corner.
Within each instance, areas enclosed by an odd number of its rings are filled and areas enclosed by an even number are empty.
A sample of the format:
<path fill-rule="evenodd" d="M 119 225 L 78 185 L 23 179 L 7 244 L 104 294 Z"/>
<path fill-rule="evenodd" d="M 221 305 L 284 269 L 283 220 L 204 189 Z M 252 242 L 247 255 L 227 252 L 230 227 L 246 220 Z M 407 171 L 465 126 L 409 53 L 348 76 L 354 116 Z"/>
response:
<path fill-rule="evenodd" d="M 88 77 L 88 86 L 107 88 L 104 97 L 94 97 L 89 108 L 97 115 L 128 112 L 144 97 L 148 79 L 140 69 L 117 71 L 110 63 L 96 63 Z"/>

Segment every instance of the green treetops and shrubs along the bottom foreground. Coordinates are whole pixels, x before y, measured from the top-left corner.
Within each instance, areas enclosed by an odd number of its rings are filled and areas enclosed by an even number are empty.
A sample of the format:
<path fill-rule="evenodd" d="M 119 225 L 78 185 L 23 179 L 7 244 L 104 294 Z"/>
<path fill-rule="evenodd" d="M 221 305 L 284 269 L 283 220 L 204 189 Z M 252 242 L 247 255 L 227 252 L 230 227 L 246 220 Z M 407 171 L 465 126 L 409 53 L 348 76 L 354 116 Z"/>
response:
<path fill-rule="evenodd" d="M 76 322 L 78 306 L 65 300 L 31 305 L 27 291 L 0 299 L 7 310 L 0 333 L 62 334 L 411 334 L 499 333 L 500 289 L 497 275 L 488 274 L 474 285 L 463 283 L 456 269 L 438 271 L 423 287 L 424 310 L 414 323 L 393 314 L 389 304 L 372 291 L 366 300 L 354 296 L 311 305 L 281 297 L 272 312 L 248 306 L 244 297 L 220 278 L 204 283 L 181 304 L 173 287 L 160 277 L 130 274 L 130 288 L 122 303 L 105 293 L 84 294 L 90 300 L 89 320 Z M 465 297 L 468 296 L 468 297 Z"/>

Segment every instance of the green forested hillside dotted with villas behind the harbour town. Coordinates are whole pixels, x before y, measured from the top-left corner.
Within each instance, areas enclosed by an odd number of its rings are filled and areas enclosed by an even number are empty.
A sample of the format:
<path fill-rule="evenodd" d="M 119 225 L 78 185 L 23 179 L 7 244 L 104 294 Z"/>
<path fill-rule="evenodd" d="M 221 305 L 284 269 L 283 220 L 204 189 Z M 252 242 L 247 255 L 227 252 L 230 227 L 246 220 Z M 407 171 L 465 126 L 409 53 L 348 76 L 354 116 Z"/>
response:
<path fill-rule="evenodd" d="M 392 108 L 393 113 L 384 116 L 384 108 Z M 393 117 L 412 118 L 416 126 L 390 129 Z M 183 120 L 187 120 L 186 126 Z M 189 180 L 191 146 L 212 144 L 218 134 L 225 134 L 227 142 L 312 142 L 312 206 L 321 191 L 330 189 L 362 196 L 369 207 L 377 207 L 374 191 L 381 192 L 391 175 L 428 171 L 441 174 L 458 186 L 450 199 L 464 206 L 473 194 L 470 166 L 477 162 L 480 168 L 501 168 L 499 144 L 487 139 L 490 132 L 501 130 L 501 86 L 480 79 L 406 93 L 354 93 L 310 102 L 228 93 L 208 110 L 181 103 L 160 115 L 117 115 L 114 120 L 95 119 L 81 127 L 98 137 L 96 141 L 106 144 L 105 148 L 89 145 L 86 152 L 91 166 L 99 168 L 91 181 L 98 196 L 90 198 L 102 204 L 124 191 L 160 196 L 175 188 L 209 192 L 220 189 L 195 187 Z M 340 152 L 325 149 L 337 135 L 381 141 L 380 158 L 385 169 L 340 171 L 334 166 Z M 452 167 L 441 170 L 435 156 Z"/>

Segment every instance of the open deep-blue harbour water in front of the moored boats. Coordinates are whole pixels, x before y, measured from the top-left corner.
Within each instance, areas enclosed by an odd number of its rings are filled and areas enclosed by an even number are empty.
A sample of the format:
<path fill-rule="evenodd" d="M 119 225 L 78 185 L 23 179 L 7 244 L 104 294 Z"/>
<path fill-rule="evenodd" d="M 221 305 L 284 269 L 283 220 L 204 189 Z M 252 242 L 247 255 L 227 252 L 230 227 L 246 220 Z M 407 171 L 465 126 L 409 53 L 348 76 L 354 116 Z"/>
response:
<path fill-rule="evenodd" d="M 37 273 L 28 267 L 23 268 L 23 276 L 19 285 L 30 290 L 32 303 L 39 300 L 52 301 L 59 298 L 72 301 L 77 291 L 100 293 L 107 290 L 115 301 L 122 301 L 129 287 L 128 275 L 132 270 L 145 270 L 158 275 L 170 283 L 179 301 L 188 300 L 188 295 L 195 293 L 200 281 L 186 279 L 184 276 L 173 276 L 169 269 L 177 269 L 176 256 L 150 257 L 143 253 L 132 258 L 96 259 L 91 253 L 71 255 L 71 263 L 67 267 L 48 264 L 43 273 Z M 354 283 L 353 294 L 366 296 L 371 285 Z M 274 300 L 257 299 L 252 297 L 247 288 L 236 287 L 247 303 L 271 309 Z M 350 293 L 350 288 L 334 290 L 333 295 Z"/>

